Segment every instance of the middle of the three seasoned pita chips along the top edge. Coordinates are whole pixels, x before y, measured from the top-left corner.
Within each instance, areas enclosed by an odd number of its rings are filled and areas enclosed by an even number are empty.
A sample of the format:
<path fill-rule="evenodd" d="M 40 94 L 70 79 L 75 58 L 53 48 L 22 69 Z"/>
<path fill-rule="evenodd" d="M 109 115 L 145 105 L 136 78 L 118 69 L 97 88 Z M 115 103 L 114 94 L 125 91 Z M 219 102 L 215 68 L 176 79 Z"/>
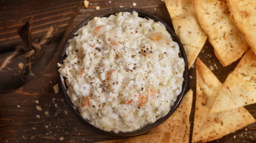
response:
<path fill-rule="evenodd" d="M 249 48 L 243 33 L 229 17 L 228 5 L 217 0 L 192 0 L 198 19 L 209 36 L 216 57 L 228 66 Z"/>

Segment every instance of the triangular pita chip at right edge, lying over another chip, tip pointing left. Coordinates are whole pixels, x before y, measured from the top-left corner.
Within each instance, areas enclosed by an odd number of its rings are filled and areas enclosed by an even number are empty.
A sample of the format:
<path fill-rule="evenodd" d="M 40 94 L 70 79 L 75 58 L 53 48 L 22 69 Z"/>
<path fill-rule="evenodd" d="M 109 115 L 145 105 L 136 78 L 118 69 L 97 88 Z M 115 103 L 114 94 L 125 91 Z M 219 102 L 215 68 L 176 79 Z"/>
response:
<path fill-rule="evenodd" d="M 256 56 L 249 49 L 226 78 L 211 113 L 256 103 Z"/>

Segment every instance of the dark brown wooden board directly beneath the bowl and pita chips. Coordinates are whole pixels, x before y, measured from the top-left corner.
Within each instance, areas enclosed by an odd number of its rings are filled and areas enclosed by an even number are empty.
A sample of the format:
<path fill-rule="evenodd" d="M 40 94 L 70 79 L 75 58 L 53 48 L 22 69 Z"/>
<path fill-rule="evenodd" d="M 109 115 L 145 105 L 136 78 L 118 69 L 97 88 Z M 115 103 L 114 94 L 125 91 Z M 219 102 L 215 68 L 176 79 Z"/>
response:
<path fill-rule="evenodd" d="M 54 44 L 57 50 L 52 51 L 54 54 L 45 70 L 38 74 L 36 79 L 29 81 L 24 86 L 0 94 L 0 142 L 95 142 L 126 138 L 101 134 L 85 125 L 68 108 L 62 93 L 54 94 L 53 86 L 58 83 L 58 67 L 56 63 L 58 62 L 61 48 L 74 27 L 96 12 L 96 6 L 100 6 L 100 10 L 119 6 L 133 7 L 133 2 L 137 4 L 134 8 L 146 10 L 171 25 L 171 19 L 165 4 L 160 0 L 112 0 L 111 3 L 110 1 L 91 0 L 89 8 L 84 8 L 80 3 L 67 26 L 62 40 Z M 223 67 L 214 55 L 209 41 L 204 45 L 199 57 L 222 83 L 238 63 L 237 61 L 227 67 Z M 190 116 L 191 141 L 196 97 L 195 63 L 194 68 L 190 69 L 189 75 L 187 91 L 190 88 L 194 91 Z M 42 111 L 37 110 L 36 106 L 40 106 Z M 245 108 L 256 118 L 255 104 L 247 105 Z M 49 113 L 45 114 L 47 112 Z M 256 123 L 253 123 L 244 129 L 212 142 L 255 142 L 255 134 Z"/>

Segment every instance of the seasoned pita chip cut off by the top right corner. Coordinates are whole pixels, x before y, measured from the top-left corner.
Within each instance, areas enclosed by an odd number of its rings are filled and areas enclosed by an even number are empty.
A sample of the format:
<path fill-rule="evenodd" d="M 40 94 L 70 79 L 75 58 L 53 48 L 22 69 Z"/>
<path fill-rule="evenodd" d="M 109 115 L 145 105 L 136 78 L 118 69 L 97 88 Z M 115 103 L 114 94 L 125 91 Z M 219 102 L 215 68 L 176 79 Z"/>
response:
<path fill-rule="evenodd" d="M 256 53 L 256 1 L 255 0 L 227 0 L 230 17 L 237 27 L 245 34 L 245 39 Z"/>

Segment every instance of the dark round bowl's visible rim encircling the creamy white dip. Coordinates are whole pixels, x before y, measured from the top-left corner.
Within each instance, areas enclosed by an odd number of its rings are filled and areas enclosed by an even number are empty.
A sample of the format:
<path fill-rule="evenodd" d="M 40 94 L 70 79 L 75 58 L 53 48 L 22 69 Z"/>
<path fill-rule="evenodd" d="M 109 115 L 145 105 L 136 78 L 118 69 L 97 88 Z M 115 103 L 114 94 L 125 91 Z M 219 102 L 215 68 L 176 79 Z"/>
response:
<path fill-rule="evenodd" d="M 82 116 L 80 115 L 79 111 L 75 108 L 74 104 L 72 103 L 72 101 L 70 100 L 67 91 L 66 91 L 66 84 L 64 82 L 63 77 L 59 74 L 59 83 L 61 86 L 61 90 L 63 91 L 64 94 L 64 98 L 67 101 L 69 107 L 71 108 L 71 110 L 74 111 L 75 115 L 81 119 L 83 122 L 85 122 L 87 125 L 89 125 L 92 128 L 95 128 L 107 135 L 116 135 L 116 136 L 132 136 L 132 135 L 139 135 L 145 132 L 150 131 L 151 129 L 153 129 L 154 127 L 158 126 L 159 124 L 161 124 L 163 121 L 165 121 L 166 119 L 168 119 L 173 112 L 176 110 L 176 108 L 179 106 L 179 104 L 181 103 L 181 100 L 185 94 L 186 91 L 186 87 L 187 87 L 187 82 L 188 82 L 188 63 L 187 63 L 187 57 L 184 51 L 184 48 L 181 44 L 181 41 L 179 40 L 179 38 L 177 37 L 177 35 L 174 33 L 174 31 L 170 28 L 169 25 L 167 25 L 165 22 L 163 22 L 160 18 L 154 16 L 153 14 L 140 10 L 140 9 L 136 9 L 136 8 L 109 8 L 109 9 L 105 9 L 102 11 L 98 11 L 96 13 L 94 13 L 93 15 L 87 17 L 84 21 L 82 21 L 80 24 L 78 24 L 75 29 L 71 32 L 71 34 L 69 35 L 68 39 L 66 40 L 63 49 L 61 51 L 60 54 L 60 58 L 59 58 L 59 63 L 63 64 L 63 60 L 66 58 L 66 49 L 69 45 L 68 40 L 72 39 L 75 36 L 75 32 L 81 28 L 82 26 L 86 25 L 89 21 L 91 21 L 94 17 L 109 17 L 112 14 L 118 13 L 118 12 L 132 12 L 133 10 L 137 11 L 139 13 L 139 17 L 143 17 L 143 18 L 150 18 L 153 19 L 154 21 L 158 22 L 160 21 L 162 24 L 164 24 L 164 26 L 166 27 L 166 30 L 171 34 L 172 38 L 174 41 L 176 41 L 179 46 L 180 46 L 180 55 L 181 57 L 183 57 L 184 61 L 185 61 L 185 71 L 183 73 L 183 84 L 182 84 L 182 91 L 181 94 L 178 96 L 177 101 L 171 106 L 171 109 L 169 111 L 169 113 L 167 115 L 165 115 L 164 117 L 158 119 L 156 122 L 149 124 L 145 127 L 142 127 L 138 130 L 132 131 L 132 132 L 118 132 L 115 133 L 113 131 L 111 132 L 106 132 L 103 131 L 99 128 L 96 128 L 94 125 L 90 124 L 90 121 L 87 119 L 82 118 Z"/>

